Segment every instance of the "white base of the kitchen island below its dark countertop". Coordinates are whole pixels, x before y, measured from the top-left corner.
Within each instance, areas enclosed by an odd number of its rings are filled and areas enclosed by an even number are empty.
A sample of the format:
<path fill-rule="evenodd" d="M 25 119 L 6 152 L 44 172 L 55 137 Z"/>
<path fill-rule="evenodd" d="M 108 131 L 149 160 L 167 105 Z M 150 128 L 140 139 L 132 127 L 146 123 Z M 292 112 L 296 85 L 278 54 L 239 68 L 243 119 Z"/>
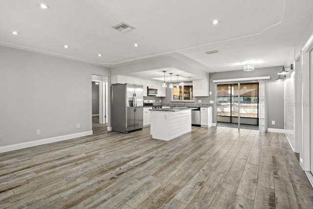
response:
<path fill-rule="evenodd" d="M 151 111 L 150 134 L 153 139 L 171 140 L 191 132 L 191 110 Z"/>

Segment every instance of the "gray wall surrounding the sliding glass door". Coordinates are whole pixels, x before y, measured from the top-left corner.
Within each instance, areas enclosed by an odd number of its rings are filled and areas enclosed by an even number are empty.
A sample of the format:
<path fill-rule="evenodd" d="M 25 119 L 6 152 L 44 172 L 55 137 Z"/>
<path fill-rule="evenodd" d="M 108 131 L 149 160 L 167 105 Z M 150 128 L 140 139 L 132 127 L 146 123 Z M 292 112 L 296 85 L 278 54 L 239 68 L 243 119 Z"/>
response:
<path fill-rule="evenodd" d="M 277 72 L 282 67 L 259 68 L 253 71 L 226 71 L 210 73 L 209 89 L 212 92 L 209 99 L 215 99 L 215 84 L 213 80 L 248 78 L 270 76 L 268 80 L 268 128 L 284 129 L 284 82 L 275 81 L 278 77 Z M 275 120 L 275 125 L 271 121 Z M 215 123 L 215 106 L 213 106 L 213 122 Z"/>

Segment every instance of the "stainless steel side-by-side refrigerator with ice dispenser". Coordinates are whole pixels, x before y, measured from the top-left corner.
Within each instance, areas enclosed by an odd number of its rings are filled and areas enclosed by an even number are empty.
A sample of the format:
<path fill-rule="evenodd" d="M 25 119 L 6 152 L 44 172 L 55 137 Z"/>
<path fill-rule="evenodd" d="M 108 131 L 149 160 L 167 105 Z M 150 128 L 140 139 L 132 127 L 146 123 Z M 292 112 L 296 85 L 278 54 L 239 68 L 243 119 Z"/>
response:
<path fill-rule="evenodd" d="M 143 127 L 143 86 L 112 84 L 112 131 L 128 133 Z"/>

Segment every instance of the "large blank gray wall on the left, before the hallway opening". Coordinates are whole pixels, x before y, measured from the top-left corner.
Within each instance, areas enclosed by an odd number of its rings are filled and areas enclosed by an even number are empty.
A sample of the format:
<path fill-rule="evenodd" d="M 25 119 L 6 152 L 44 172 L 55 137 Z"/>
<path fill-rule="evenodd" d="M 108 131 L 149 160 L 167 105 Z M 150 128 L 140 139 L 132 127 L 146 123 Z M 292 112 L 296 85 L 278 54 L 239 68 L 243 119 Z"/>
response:
<path fill-rule="evenodd" d="M 91 74 L 110 69 L 0 46 L 0 146 L 91 131 Z"/>

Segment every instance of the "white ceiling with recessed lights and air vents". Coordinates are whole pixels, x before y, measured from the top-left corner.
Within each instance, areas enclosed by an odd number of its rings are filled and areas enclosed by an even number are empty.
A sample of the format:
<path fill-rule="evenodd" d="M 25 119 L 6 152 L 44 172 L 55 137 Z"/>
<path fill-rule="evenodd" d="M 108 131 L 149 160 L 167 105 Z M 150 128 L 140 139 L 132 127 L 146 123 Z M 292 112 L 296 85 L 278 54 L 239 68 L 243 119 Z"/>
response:
<path fill-rule="evenodd" d="M 262 68 L 286 63 L 312 14 L 313 0 L 0 0 L 0 45 L 107 67 L 179 53 L 208 72 Z"/>

